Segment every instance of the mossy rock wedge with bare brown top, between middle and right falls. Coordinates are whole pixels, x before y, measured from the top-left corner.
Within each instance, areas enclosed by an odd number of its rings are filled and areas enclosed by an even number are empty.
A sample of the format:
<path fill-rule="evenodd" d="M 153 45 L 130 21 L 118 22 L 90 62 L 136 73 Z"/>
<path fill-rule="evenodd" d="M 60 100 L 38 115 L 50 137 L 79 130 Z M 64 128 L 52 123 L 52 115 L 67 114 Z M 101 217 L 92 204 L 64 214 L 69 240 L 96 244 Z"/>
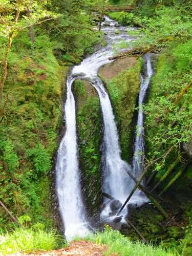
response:
<path fill-rule="evenodd" d="M 105 65 L 99 76 L 108 89 L 115 114 L 122 159 L 131 160 L 131 141 L 134 125 L 131 125 L 140 87 L 142 59 L 119 58 Z"/>

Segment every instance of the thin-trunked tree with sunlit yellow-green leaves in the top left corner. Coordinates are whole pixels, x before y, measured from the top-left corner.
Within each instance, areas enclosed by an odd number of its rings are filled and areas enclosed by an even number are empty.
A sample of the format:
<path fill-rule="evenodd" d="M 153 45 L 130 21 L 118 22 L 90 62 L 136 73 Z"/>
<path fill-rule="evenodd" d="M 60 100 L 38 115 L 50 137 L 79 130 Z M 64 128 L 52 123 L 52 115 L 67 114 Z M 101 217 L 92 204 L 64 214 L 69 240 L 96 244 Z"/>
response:
<path fill-rule="evenodd" d="M 27 14 L 27 15 L 26 15 Z M 53 19 L 55 14 L 44 9 L 44 4 L 32 0 L 0 0 L 0 36 L 7 38 L 5 56 L 0 79 L 0 120 L 5 116 L 6 100 L 3 101 L 3 89 L 7 76 L 8 57 L 14 36 L 18 31 L 30 28 L 31 40 L 34 40 L 33 25 Z"/>

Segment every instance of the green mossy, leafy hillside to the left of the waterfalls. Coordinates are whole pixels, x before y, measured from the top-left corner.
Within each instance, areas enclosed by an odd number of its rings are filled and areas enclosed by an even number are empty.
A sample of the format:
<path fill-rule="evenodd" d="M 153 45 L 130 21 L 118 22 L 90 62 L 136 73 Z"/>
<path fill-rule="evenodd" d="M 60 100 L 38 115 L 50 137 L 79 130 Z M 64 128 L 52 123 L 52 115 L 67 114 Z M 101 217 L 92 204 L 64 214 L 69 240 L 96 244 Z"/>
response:
<path fill-rule="evenodd" d="M 79 1 L 61 6 L 53 1 L 38 8 L 39 3 L 33 1 L 30 17 L 23 15 L 23 10 L 29 8 L 27 2 L 14 5 L 15 9 L 6 16 L 2 10 L 12 7 L 12 3 L 2 1 L 1 15 L 10 28 L 18 29 L 8 55 L 4 86 L 4 96 L 9 93 L 9 98 L 0 134 L 0 200 L 15 216 L 28 214 L 34 221 L 51 227 L 54 226 L 49 200 L 52 179 L 48 174 L 58 145 L 67 66 L 79 63 L 101 39 Z M 17 24 L 13 17 L 18 9 L 22 15 Z M 38 20 L 49 17 L 52 19 L 38 24 Z M 34 42 L 30 40 L 29 24 L 36 25 Z M 4 64 L 9 33 L 5 23 L 1 23 L 1 28 L 0 52 Z M 2 207 L 0 220 L 2 228 L 13 225 Z"/>

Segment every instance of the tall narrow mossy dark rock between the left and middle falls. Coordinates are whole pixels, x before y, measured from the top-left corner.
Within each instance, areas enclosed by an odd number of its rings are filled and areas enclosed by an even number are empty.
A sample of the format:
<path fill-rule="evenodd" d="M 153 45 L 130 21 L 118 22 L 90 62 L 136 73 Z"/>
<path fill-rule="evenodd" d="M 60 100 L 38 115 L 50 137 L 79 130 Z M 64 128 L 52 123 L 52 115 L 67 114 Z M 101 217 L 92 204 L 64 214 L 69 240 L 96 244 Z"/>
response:
<path fill-rule="evenodd" d="M 89 212 L 98 210 L 100 195 L 101 111 L 95 88 L 91 83 L 76 80 L 73 90 L 77 99 L 77 133 L 81 169 L 85 180 Z"/>

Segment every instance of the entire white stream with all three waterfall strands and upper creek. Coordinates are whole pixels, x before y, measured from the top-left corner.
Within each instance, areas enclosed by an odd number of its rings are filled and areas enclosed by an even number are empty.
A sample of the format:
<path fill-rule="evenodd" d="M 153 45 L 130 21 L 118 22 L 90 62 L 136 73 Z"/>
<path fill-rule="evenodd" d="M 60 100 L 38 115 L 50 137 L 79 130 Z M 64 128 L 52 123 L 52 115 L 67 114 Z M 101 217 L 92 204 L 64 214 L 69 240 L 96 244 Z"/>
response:
<path fill-rule="evenodd" d="M 125 168 L 131 170 L 132 167 L 121 159 L 119 138 L 111 102 L 102 81 L 97 76 L 99 69 L 104 64 L 110 62 L 109 57 L 113 55 L 111 49 L 112 43 L 122 39 L 129 41 L 131 38 L 126 32 L 127 28 L 120 27 L 118 28 L 120 33 L 115 34 L 116 28 L 114 27 L 114 20 L 108 18 L 108 22 L 111 26 L 102 27 L 102 31 L 107 35 L 106 41 L 108 44 L 103 49 L 84 59 L 80 65 L 75 66 L 67 77 L 67 100 L 65 103 L 66 133 L 60 142 L 56 162 L 56 190 L 67 241 L 72 240 L 75 236 L 84 237 L 89 233 L 89 223 L 86 218 L 86 212 L 81 196 L 80 171 L 78 164 L 75 99 L 72 93 L 72 85 L 75 79 L 80 78 L 89 80 L 97 90 L 100 99 L 104 126 L 102 146 L 102 190 L 123 203 L 135 185 L 129 175 L 125 172 Z M 148 81 L 147 83 L 149 83 L 149 78 L 152 73 L 148 73 L 148 69 L 151 67 L 151 62 L 148 56 L 146 58 L 148 74 L 148 80 L 146 80 Z M 144 81 L 146 80 L 144 79 Z M 148 87 L 148 84 L 146 85 L 146 82 L 143 82 L 141 79 L 141 86 L 142 84 L 145 84 L 145 86 L 142 87 L 143 96 L 141 103 L 139 103 L 139 108 L 141 107 Z M 140 110 L 139 113 L 142 113 L 142 111 Z M 139 126 L 141 126 L 141 124 L 143 125 L 143 113 L 142 120 L 138 122 Z M 143 148 L 137 145 L 139 143 L 139 140 L 136 140 L 135 152 L 143 150 Z M 138 160 L 136 158 L 134 159 L 133 164 L 136 166 Z M 146 198 L 139 190 L 136 190 L 130 203 L 141 204 L 144 201 L 146 201 Z M 110 211 L 111 209 L 109 205 L 106 206 L 101 212 L 101 219 L 113 220 L 115 216 L 110 217 Z M 127 210 L 125 208 L 122 211 L 122 215 L 125 216 L 126 213 Z"/>

